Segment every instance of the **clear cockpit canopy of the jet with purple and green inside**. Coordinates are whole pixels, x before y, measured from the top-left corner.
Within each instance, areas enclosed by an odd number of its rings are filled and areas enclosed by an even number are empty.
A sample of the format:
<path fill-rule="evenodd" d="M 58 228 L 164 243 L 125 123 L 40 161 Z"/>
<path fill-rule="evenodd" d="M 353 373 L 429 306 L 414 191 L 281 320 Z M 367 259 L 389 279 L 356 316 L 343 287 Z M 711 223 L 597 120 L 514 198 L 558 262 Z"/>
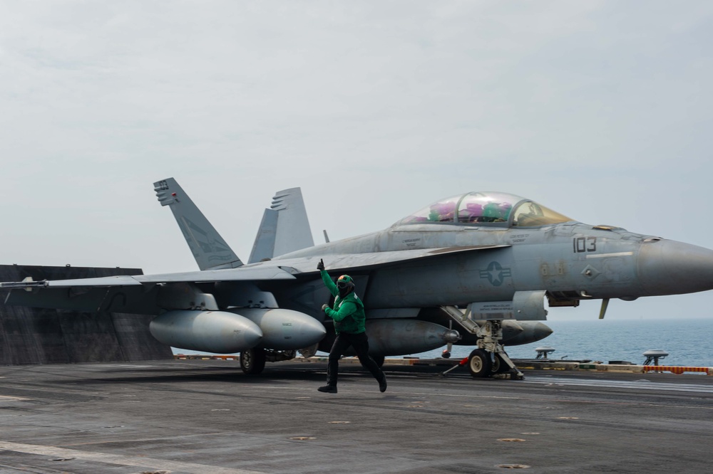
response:
<path fill-rule="evenodd" d="M 514 194 L 471 192 L 441 199 L 394 224 L 458 223 L 501 227 L 533 227 L 572 219 Z"/>

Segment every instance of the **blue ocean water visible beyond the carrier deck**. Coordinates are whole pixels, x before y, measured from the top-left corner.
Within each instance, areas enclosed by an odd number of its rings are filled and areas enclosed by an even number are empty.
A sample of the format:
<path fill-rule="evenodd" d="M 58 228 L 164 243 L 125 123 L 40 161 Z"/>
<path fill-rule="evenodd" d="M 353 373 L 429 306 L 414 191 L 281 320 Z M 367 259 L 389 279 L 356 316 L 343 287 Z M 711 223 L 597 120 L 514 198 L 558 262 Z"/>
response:
<path fill-rule="evenodd" d="M 643 352 L 660 349 L 668 352 L 662 365 L 713 367 L 713 320 L 555 320 L 545 321 L 553 333 L 538 342 L 506 347 L 513 359 L 534 359 L 536 347 L 555 349 L 549 359 L 585 360 L 607 363 L 627 361 L 642 364 Z M 421 354 L 421 359 L 441 357 L 441 347 Z M 451 359 L 468 356 L 474 347 L 453 346 Z M 174 354 L 198 354 L 195 351 L 173 349 Z M 326 355 L 319 352 L 318 355 Z"/>

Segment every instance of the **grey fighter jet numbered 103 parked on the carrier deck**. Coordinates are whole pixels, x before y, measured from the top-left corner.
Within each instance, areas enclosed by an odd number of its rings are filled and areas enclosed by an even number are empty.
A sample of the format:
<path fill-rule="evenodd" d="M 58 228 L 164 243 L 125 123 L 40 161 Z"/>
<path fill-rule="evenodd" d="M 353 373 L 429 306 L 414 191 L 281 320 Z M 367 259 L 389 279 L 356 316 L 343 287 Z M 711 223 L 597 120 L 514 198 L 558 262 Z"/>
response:
<path fill-rule="evenodd" d="M 375 358 L 469 344 L 474 377 L 518 378 L 504 345 L 550 334 L 545 302 L 600 299 L 603 317 L 611 298 L 713 289 L 711 250 L 580 223 L 501 192 L 458 194 L 383 231 L 314 246 L 301 192 L 279 191 L 245 264 L 174 179 L 154 187 L 200 271 L 0 283 L 14 289 L 6 303 L 155 315 L 150 331 L 161 342 L 240 352 L 243 371 L 257 374 L 297 351 L 329 352 L 322 258 L 334 276 L 356 281 Z"/>

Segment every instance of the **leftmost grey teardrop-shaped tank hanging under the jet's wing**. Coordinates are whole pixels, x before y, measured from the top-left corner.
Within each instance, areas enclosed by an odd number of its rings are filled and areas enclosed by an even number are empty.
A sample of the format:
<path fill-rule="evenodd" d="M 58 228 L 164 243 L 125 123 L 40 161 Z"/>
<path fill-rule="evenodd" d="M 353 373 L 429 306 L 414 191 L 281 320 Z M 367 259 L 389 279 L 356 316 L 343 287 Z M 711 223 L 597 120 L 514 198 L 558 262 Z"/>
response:
<path fill-rule="evenodd" d="M 225 311 L 169 311 L 155 317 L 148 329 L 171 347 L 219 354 L 251 349 L 262 339 L 255 322 Z"/>

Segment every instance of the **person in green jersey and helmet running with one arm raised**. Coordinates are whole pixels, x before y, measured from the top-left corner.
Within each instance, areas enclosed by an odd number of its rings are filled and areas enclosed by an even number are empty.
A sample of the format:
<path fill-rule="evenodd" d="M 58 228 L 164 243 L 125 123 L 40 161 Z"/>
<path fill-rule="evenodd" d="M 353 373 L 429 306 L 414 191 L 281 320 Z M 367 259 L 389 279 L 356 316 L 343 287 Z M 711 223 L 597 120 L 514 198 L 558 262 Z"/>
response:
<path fill-rule="evenodd" d="M 334 285 L 329 273 L 324 270 L 322 259 L 319 259 L 317 270 L 322 275 L 324 285 L 334 296 L 334 309 L 329 305 L 322 305 L 322 310 L 334 320 L 334 331 L 337 332 L 337 339 L 334 339 L 332 350 L 329 351 L 327 385 L 320 386 L 318 390 L 328 394 L 337 393 L 339 359 L 342 358 L 349 346 L 352 346 L 361 365 L 369 370 L 374 379 L 379 382 L 379 390 L 386 391 L 386 376 L 379 369 L 379 364 L 369 357 L 369 339 L 366 337 L 366 327 L 364 327 L 366 320 L 364 303 L 354 294 L 354 280 L 349 275 L 342 275 L 337 280 L 337 285 Z"/>

